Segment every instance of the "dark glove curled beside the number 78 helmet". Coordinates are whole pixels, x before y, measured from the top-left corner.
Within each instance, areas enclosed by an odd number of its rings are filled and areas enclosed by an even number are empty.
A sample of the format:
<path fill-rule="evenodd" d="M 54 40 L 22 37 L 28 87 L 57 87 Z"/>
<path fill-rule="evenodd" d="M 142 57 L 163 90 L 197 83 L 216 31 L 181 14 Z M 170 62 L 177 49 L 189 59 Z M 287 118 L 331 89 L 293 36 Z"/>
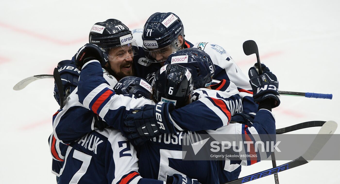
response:
<path fill-rule="evenodd" d="M 104 66 L 108 61 L 107 53 L 98 47 L 98 45 L 86 44 L 76 54 L 75 65 L 81 70 L 84 64 L 91 60 L 98 60 L 100 64 Z"/>

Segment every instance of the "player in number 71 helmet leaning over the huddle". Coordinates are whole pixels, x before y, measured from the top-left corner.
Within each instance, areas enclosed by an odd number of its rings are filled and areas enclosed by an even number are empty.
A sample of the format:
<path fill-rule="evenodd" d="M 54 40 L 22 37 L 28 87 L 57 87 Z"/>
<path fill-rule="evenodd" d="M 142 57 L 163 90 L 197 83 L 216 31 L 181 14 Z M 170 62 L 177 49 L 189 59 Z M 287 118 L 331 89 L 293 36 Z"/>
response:
<path fill-rule="evenodd" d="M 226 79 L 234 82 L 240 91 L 242 100 L 247 100 L 249 104 L 253 102 L 252 92 L 249 91 L 251 86 L 248 77 L 242 73 L 231 56 L 217 44 L 208 42 L 192 44 L 185 40 L 184 25 L 174 13 L 154 13 L 145 23 L 143 30 L 132 30 L 132 33 L 139 46 L 139 56 L 134 59 L 136 71 L 139 72 L 136 72 L 137 76 L 151 81 L 154 72 L 163 65 L 171 53 L 185 48 L 198 48 L 204 50 L 211 57 L 216 68 L 214 79 L 220 81 Z M 141 50 L 145 52 L 142 53 Z M 175 58 L 174 62 L 181 62 L 178 59 Z M 160 65 L 154 62 L 159 62 Z M 142 68 L 142 70 L 138 70 L 138 68 Z M 250 109 L 249 112 L 256 110 L 257 106 Z"/>

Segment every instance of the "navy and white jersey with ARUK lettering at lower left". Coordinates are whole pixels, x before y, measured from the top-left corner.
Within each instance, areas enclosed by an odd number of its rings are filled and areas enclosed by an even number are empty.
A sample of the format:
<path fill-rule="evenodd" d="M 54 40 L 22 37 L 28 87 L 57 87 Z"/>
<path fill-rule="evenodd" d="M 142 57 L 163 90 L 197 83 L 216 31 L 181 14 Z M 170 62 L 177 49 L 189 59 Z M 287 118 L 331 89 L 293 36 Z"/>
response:
<path fill-rule="evenodd" d="M 134 147 L 114 129 L 92 131 L 68 146 L 58 184 L 63 183 L 163 184 L 139 176 Z"/>

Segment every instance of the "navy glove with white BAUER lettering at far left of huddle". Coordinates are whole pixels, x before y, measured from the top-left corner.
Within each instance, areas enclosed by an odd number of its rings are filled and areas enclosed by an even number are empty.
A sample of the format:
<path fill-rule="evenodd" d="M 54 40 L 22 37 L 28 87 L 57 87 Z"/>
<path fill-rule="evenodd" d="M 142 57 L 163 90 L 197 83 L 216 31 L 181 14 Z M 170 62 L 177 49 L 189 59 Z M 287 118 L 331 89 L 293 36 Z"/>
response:
<path fill-rule="evenodd" d="M 74 62 L 71 60 L 60 61 L 58 63 L 57 68 L 62 79 L 64 89 L 63 96 L 66 96 L 66 91 L 67 93 L 71 93 L 78 86 L 80 71 L 77 69 L 77 67 L 74 65 Z M 59 91 L 56 84 L 54 84 L 53 96 L 60 105 Z"/>

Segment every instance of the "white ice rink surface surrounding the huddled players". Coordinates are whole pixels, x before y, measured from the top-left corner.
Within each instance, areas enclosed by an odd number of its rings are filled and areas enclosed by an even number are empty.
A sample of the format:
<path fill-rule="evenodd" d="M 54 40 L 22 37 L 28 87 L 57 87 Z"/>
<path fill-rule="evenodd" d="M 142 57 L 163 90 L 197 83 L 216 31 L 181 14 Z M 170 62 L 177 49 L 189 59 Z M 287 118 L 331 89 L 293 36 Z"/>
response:
<path fill-rule="evenodd" d="M 0 183 L 55 183 L 47 142 L 58 110 L 53 79 L 35 81 L 21 91 L 12 88 L 23 78 L 52 74 L 59 61 L 70 59 L 88 41 L 94 23 L 109 18 L 136 29 L 155 12 L 173 12 L 184 23 L 186 40 L 219 44 L 244 73 L 256 57 L 244 55 L 242 43 L 255 40 L 261 62 L 279 80 L 279 90 L 333 94 L 332 100 L 281 96 L 281 105 L 273 109 L 277 128 L 312 120 L 340 123 L 339 7 L 339 1 L 327 0 L 2 1 Z M 339 183 L 339 164 L 312 161 L 278 173 L 279 181 Z M 270 161 L 242 167 L 241 176 L 270 167 Z M 268 176 L 251 183 L 273 180 Z"/>

